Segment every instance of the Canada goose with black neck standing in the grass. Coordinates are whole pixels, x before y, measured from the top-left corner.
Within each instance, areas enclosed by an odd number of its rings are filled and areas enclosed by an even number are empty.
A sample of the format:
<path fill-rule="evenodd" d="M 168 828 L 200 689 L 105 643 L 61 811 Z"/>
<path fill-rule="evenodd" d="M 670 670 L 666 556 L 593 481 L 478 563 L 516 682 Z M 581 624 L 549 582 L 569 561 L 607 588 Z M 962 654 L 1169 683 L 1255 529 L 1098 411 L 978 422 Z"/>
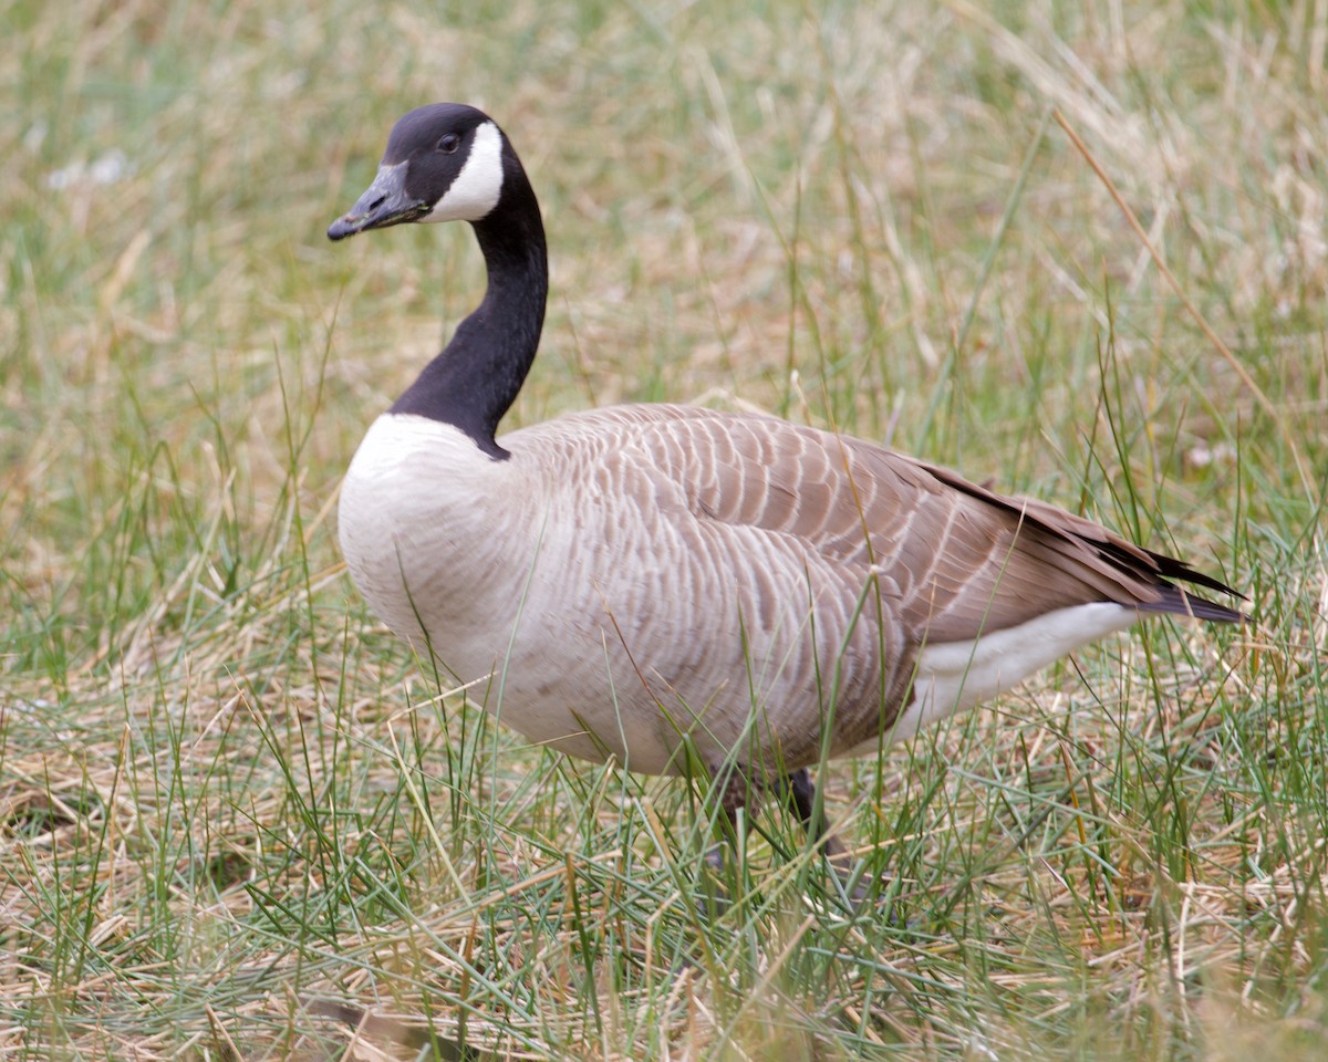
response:
<path fill-rule="evenodd" d="M 548 289 L 539 206 L 507 137 L 418 108 L 328 228 L 470 222 L 489 283 L 360 443 L 347 566 L 373 611 L 534 742 L 645 773 L 695 751 L 774 785 L 1009 689 L 1149 612 L 1235 623 L 1234 593 L 1042 502 L 774 417 L 598 409 L 495 431 Z"/>

